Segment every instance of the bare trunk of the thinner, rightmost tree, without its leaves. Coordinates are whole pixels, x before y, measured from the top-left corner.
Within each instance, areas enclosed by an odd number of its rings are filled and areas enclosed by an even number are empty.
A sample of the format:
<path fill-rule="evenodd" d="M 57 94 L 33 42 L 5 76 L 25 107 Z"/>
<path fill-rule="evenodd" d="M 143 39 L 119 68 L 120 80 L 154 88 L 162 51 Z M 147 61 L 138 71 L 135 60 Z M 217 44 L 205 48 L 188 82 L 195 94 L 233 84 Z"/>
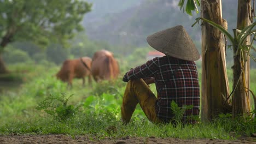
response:
<path fill-rule="evenodd" d="M 251 20 L 251 0 L 238 0 L 237 29 L 241 30 L 250 25 Z M 248 37 L 245 45 L 249 45 L 249 43 L 250 38 Z M 243 52 L 241 53 L 241 51 Z M 232 69 L 234 94 L 232 97 L 232 114 L 235 117 L 248 113 L 251 110 L 249 91 L 246 89 L 249 88 L 250 58 L 246 58 L 247 51 L 238 49 L 238 46 L 234 46 L 233 52 L 234 66 Z M 243 65 L 243 62 L 246 62 L 245 65 Z M 243 69 L 243 67 L 245 67 L 245 69 Z"/>

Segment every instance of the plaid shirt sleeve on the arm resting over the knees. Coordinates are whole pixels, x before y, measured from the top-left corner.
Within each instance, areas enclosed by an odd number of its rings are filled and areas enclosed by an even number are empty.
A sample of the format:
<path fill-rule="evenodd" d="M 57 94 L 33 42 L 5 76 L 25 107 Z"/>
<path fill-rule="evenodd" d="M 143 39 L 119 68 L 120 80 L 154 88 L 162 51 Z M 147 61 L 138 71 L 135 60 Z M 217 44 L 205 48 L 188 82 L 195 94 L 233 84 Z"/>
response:
<path fill-rule="evenodd" d="M 154 58 L 142 65 L 139 65 L 124 75 L 123 81 L 132 79 L 142 79 L 145 77 L 154 77 L 154 74 L 159 70 L 158 58 Z"/>

